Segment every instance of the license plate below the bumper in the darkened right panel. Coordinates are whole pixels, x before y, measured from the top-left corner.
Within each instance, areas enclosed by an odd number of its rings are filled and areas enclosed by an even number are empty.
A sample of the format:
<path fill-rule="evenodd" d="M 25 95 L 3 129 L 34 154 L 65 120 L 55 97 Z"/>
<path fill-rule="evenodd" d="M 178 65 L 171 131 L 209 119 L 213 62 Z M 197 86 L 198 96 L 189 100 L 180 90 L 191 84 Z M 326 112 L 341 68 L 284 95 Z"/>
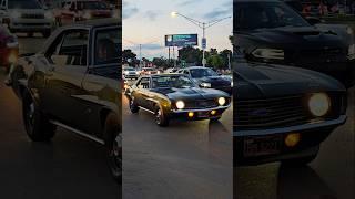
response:
<path fill-rule="evenodd" d="M 250 137 L 244 139 L 244 157 L 278 154 L 281 136 Z"/>

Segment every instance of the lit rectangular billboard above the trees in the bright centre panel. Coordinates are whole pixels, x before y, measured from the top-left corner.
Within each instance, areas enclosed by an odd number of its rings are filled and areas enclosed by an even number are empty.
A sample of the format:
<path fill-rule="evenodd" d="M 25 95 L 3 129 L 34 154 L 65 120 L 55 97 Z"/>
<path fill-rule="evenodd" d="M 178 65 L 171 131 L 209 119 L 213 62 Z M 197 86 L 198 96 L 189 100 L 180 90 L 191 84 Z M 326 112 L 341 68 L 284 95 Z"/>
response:
<path fill-rule="evenodd" d="M 165 35 L 165 46 L 194 46 L 199 45 L 197 34 Z"/>

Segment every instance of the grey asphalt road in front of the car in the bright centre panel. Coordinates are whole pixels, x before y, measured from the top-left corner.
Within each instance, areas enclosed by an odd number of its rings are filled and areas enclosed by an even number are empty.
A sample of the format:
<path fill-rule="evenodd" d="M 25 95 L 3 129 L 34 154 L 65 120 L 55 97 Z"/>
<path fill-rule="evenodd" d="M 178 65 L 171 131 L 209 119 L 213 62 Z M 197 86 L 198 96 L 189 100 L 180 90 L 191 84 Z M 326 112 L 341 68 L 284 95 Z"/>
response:
<path fill-rule="evenodd" d="M 232 198 L 232 108 L 220 123 L 159 127 L 122 97 L 124 199 Z"/>

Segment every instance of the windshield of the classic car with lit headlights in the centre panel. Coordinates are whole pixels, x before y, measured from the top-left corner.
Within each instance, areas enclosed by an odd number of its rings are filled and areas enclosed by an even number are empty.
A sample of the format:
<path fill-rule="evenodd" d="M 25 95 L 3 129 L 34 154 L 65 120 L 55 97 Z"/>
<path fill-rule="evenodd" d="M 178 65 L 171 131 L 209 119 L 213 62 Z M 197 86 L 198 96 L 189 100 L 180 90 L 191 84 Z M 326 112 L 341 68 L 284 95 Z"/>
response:
<path fill-rule="evenodd" d="M 154 76 L 153 88 L 175 87 L 175 88 L 189 88 L 195 87 L 194 82 L 187 76 Z"/>

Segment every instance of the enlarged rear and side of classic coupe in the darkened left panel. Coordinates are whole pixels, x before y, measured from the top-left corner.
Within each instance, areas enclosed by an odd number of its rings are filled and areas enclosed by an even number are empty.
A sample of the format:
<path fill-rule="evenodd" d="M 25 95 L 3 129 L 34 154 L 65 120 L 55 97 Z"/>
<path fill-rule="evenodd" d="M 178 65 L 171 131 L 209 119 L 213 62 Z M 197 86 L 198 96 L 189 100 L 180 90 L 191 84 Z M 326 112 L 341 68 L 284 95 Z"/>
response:
<path fill-rule="evenodd" d="M 105 146 L 113 177 L 121 180 L 121 23 L 95 20 L 58 29 L 36 54 L 12 70 L 24 128 L 33 142 L 55 127 Z"/>

